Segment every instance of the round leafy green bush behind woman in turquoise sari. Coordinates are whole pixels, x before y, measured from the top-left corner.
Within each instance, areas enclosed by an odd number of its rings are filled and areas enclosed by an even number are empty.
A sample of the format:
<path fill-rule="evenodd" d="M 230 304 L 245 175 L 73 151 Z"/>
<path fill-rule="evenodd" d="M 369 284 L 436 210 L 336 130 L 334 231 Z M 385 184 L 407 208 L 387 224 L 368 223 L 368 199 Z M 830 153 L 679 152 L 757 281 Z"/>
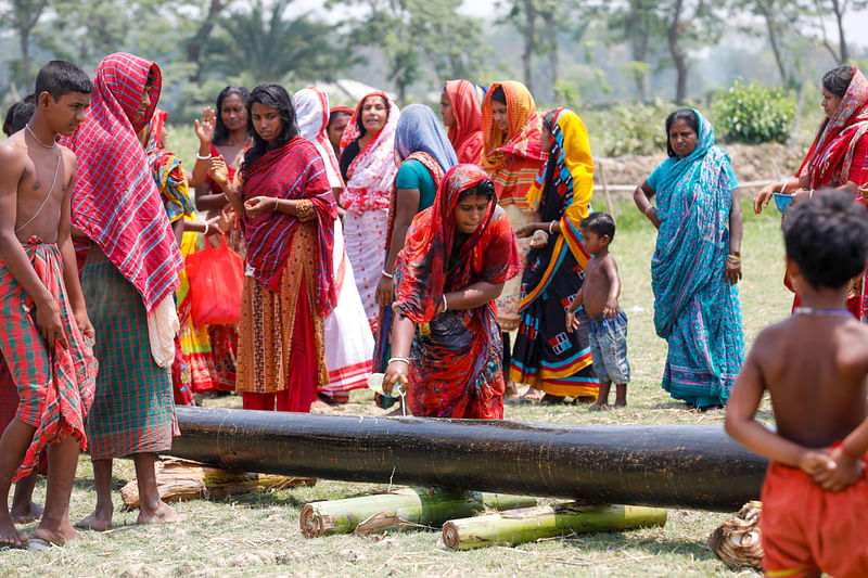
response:
<path fill-rule="evenodd" d="M 716 98 L 714 116 L 718 133 L 736 142 L 786 143 L 795 115 L 795 99 L 761 82 L 745 85 L 737 78 Z"/>

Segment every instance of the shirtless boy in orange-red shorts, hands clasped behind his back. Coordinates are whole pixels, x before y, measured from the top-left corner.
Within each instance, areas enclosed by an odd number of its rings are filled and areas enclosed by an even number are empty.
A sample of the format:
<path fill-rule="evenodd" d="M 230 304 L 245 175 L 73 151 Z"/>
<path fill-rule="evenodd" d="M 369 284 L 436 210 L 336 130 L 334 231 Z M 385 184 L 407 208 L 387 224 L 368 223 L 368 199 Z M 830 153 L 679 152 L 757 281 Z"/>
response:
<path fill-rule="evenodd" d="M 852 194 L 827 192 L 788 213 L 783 236 L 802 307 L 756 337 L 726 431 L 771 460 L 762 498 L 766 574 L 865 577 L 868 326 L 845 304 L 868 258 L 868 213 Z M 766 389 L 777 433 L 754 418 Z"/>

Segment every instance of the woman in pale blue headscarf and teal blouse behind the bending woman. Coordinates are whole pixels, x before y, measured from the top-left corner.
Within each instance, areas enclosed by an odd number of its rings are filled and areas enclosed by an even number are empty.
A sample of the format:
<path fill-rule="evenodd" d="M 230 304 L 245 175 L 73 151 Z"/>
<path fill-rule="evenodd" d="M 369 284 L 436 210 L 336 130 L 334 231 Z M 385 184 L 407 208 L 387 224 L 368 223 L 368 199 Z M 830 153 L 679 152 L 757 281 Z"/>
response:
<path fill-rule="evenodd" d="M 458 164 L 452 144 L 439 119 L 424 104 L 411 104 L 401 112 L 395 128 L 395 164 L 398 174 L 392 188 L 386 230 L 386 260 L 376 285 L 380 327 L 374 350 L 374 371 L 384 371 L 388 359 L 392 301 L 395 299 L 393 269 L 410 222 L 434 204 L 446 172 Z"/>

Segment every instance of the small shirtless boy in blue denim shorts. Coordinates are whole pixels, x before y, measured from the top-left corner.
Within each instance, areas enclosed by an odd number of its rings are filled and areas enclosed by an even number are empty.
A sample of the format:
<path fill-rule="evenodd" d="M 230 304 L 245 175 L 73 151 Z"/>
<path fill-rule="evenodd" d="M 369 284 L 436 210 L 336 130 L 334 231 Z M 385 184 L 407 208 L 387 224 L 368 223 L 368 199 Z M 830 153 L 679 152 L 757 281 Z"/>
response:
<path fill-rule="evenodd" d="M 582 246 L 591 255 L 585 281 L 566 308 L 566 331 L 578 327 L 575 317 L 580 306 L 590 317 L 588 337 L 593 371 L 600 380 L 600 394 L 588 411 L 609 409 L 609 390 L 615 382 L 615 408 L 627 404 L 630 365 L 627 362 L 627 313 L 618 307 L 621 279 L 617 264 L 609 253 L 615 236 L 615 220 L 605 213 L 592 213 L 579 226 Z"/>

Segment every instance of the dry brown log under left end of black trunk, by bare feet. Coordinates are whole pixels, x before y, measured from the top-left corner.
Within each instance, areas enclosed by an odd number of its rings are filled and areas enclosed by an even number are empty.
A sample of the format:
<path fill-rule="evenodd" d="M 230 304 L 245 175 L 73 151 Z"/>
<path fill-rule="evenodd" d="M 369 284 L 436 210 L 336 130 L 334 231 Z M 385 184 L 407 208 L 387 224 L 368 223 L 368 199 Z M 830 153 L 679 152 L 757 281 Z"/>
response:
<path fill-rule="evenodd" d="M 314 486 L 312 478 L 227 472 L 189 460 L 162 458 L 155 464 L 156 487 L 164 502 L 181 500 L 217 500 L 233 493 L 251 493 L 270 489 Z M 120 488 L 127 510 L 139 508 L 139 485 L 136 478 Z"/>

